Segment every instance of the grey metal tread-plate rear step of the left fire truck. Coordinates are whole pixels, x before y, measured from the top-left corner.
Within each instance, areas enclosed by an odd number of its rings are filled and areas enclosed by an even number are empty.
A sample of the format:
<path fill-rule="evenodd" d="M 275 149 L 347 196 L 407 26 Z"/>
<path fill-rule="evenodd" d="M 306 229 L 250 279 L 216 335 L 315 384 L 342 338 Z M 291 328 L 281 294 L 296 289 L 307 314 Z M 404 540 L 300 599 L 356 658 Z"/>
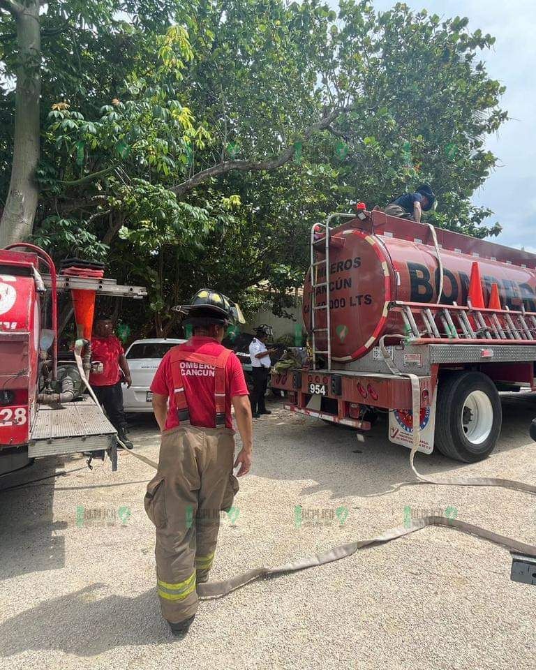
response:
<path fill-rule="evenodd" d="M 91 399 L 40 405 L 32 426 L 28 456 L 54 456 L 108 449 L 117 431 Z"/>

